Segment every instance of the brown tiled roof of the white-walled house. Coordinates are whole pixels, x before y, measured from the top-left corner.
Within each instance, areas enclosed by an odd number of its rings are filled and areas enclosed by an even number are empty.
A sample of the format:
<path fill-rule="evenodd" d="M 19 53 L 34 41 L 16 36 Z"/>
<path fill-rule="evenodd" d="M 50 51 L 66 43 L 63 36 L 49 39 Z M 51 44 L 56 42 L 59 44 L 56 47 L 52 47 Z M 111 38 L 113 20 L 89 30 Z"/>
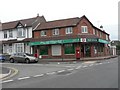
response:
<path fill-rule="evenodd" d="M 37 19 L 40 19 L 41 22 L 46 21 L 44 16 L 37 16 L 37 17 L 33 17 L 33 18 L 28 18 L 28 19 L 5 22 L 5 23 L 2 23 L 2 30 L 13 29 L 19 23 L 21 23 L 23 26 L 32 26 L 35 22 L 37 22 Z"/>

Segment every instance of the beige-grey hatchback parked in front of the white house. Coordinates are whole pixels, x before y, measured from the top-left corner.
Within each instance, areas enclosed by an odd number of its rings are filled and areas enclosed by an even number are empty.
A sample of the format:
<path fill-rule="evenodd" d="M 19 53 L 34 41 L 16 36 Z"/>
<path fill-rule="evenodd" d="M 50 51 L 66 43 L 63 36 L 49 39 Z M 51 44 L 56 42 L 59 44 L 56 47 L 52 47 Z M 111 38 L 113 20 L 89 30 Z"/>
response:
<path fill-rule="evenodd" d="M 15 53 L 10 56 L 9 61 L 10 63 L 14 63 L 14 62 L 24 62 L 24 63 L 36 62 L 37 63 L 38 58 L 28 53 Z"/>

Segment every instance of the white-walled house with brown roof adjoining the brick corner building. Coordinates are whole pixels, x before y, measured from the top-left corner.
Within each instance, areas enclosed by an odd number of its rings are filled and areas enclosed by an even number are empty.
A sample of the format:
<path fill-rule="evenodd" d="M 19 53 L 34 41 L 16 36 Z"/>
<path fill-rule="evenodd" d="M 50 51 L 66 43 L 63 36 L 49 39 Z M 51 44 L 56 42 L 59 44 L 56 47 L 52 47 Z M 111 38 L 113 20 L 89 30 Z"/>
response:
<path fill-rule="evenodd" d="M 0 42 L 2 53 L 33 53 L 29 40 L 33 37 L 32 31 L 42 22 L 46 22 L 44 16 L 16 20 L 2 23 L 0 30 Z"/>

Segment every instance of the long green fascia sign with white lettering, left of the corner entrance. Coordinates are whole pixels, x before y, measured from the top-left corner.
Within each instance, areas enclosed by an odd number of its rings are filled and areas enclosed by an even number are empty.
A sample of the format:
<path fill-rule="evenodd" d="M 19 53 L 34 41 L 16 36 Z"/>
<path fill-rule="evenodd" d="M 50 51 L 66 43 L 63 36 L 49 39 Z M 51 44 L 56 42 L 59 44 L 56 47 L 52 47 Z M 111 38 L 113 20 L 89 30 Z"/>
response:
<path fill-rule="evenodd" d="M 40 41 L 40 42 L 30 42 L 29 45 L 46 45 L 46 44 L 63 44 L 63 43 L 73 43 L 79 42 L 79 38 L 77 39 L 66 39 L 66 40 L 51 40 L 51 41 Z"/>

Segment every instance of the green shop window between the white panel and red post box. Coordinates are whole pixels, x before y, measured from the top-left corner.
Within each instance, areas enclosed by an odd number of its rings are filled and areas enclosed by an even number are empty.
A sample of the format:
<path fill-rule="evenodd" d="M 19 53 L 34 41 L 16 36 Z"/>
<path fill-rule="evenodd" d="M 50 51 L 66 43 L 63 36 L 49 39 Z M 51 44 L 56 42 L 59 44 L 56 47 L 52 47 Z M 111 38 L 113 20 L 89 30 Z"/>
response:
<path fill-rule="evenodd" d="M 74 44 L 65 44 L 64 53 L 65 54 L 75 54 Z"/>

